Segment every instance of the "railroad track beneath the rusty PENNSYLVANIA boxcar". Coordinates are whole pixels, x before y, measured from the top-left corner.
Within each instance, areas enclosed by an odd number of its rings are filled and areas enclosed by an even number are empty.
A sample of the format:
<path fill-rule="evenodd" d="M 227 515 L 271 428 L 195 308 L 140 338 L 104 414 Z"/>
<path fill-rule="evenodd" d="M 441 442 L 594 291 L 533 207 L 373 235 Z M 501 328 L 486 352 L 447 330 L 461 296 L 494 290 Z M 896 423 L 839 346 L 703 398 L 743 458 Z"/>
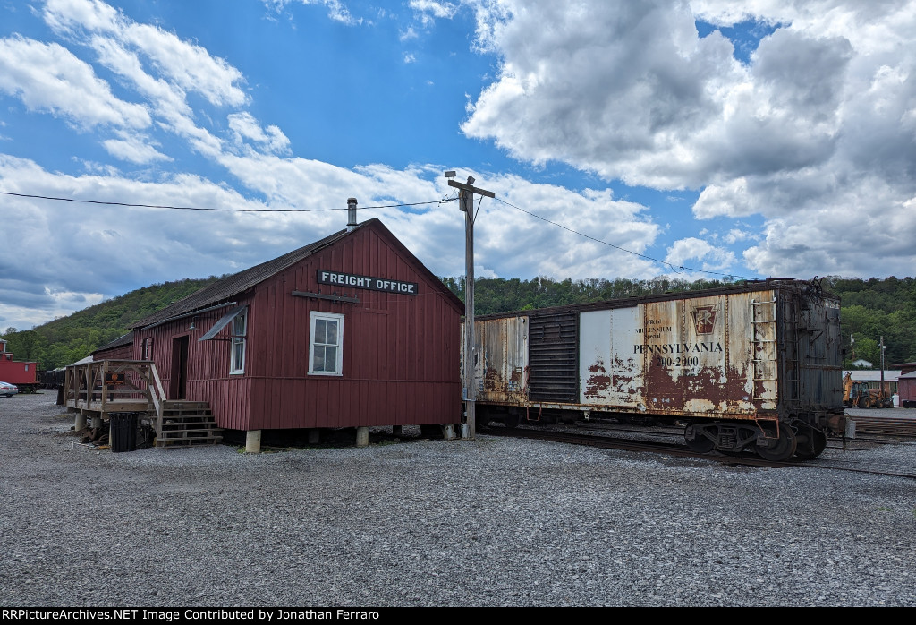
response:
<path fill-rule="evenodd" d="M 632 433 L 632 430 L 627 431 Z M 605 433 L 596 434 L 585 434 L 585 433 L 568 433 L 568 432 L 557 432 L 554 430 L 547 429 L 529 429 L 529 428 L 487 428 L 482 434 L 494 435 L 494 436 L 506 436 L 506 437 L 515 437 L 515 438 L 527 438 L 541 441 L 550 441 L 553 443 L 563 443 L 563 444 L 579 444 L 586 445 L 590 447 L 598 447 L 601 449 L 619 449 L 623 451 L 630 452 L 648 452 L 656 454 L 671 455 L 676 457 L 684 458 L 700 458 L 703 460 L 711 460 L 723 465 L 728 466 L 758 466 L 758 467 L 768 467 L 768 468 L 782 468 L 789 466 L 798 466 L 804 468 L 818 468 L 834 471 L 848 471 L 851 473 L 867 473 L 870 475 L 878 476 L 890 476 L 890 477 L 907 477 L 910 479 L 916 479 L 916 467 L 904 467 L 904 469 L 899 469 L 894 467 L 893 470 L 888 469 L 878 469 L 878 468 L 868 468 L 861 466 L 843 466 L 838 465 L 835 462 L 827 463 L 819 460 L 808 460 L 805 462 L 771 462 L 769 460 L 764 460 L 756 455 L 750 455 L 749 453 L 742 453 L 739 455 L 722 455 L 718 453 L 712 454 L 698 454 L 692 452 L 687 448 L 685 444 L 680 443 L 671 443 L 671 442 L 662 442 L 662 441 L 647 441 L 647 440 L 634 440 L 627 438 L 619 438 L 617 436 L 607 435 Z M 673 433 L 665 433 L 666 436 L 671 436 Z"/>

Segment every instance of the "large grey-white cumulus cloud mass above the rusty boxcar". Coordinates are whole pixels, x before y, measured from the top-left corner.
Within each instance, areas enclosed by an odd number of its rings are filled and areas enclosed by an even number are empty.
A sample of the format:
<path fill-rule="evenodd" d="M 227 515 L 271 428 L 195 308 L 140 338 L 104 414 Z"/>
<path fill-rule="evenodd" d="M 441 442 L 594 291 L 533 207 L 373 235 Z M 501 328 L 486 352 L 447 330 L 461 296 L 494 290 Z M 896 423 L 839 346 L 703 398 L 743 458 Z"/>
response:
<path fill-rule="evenodd" d="M 468 137 L 530 163 L 700 191 L 698 219 L 760 215 L 765 237 L 743 258 L 762 274 L 916 265 L 903 238 L 916 223 L 912 0 L 466 4 L 477 45 L 499 60 L 468 105 Z M 739 60 L 697 21 L 762 36 Z M 851 219 L 881 233 L 867 253 L 861 227 L 839 227 Z"/>

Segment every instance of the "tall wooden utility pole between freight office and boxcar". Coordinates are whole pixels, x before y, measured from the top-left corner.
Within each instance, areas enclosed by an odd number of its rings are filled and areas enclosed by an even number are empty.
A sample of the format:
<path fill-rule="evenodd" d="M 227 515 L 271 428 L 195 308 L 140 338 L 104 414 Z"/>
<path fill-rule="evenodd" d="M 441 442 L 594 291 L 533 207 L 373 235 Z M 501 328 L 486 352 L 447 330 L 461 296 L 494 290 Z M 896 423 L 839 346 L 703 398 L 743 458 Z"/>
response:
<path fill-rule="evenodd" d="M 474 376 L 474 193 L 496 197 L 492 191 L 474 186 L 474 177 L 467 183 L 456 182 L 454 171 L 446 171 L 449 186 L 458 190 L 460 209 L 464 212 L 464 406 L 467 411 L 467 431 L 471 439 L 477 436 L 477 380 Z"/>

